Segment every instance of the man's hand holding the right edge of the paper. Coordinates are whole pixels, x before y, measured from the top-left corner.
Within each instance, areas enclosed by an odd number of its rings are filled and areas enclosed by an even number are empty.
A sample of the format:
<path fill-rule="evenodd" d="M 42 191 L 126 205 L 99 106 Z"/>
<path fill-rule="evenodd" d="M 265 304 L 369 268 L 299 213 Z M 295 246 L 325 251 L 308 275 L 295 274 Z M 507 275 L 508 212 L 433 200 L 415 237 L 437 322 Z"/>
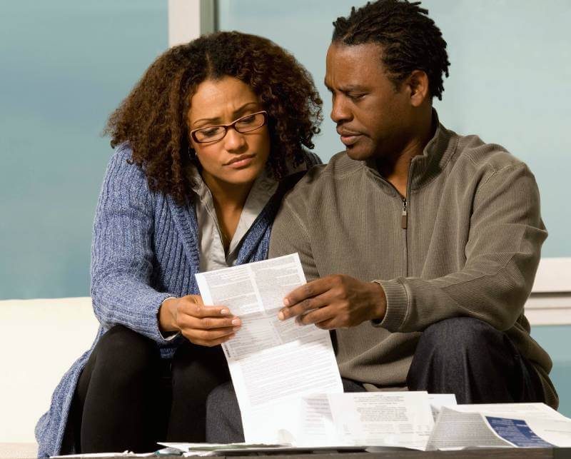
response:
<path fill-rule="evenodd" d="M 298 324 L 315 323 L 319 328 L 349 328 L 364 321 L 382 320 L 387 308 L 385 292 L 375 282 L 362 282 L 335 274 L 306 283 L 283 299 L 278 313 L 284 321 L 296 317 Z"/>

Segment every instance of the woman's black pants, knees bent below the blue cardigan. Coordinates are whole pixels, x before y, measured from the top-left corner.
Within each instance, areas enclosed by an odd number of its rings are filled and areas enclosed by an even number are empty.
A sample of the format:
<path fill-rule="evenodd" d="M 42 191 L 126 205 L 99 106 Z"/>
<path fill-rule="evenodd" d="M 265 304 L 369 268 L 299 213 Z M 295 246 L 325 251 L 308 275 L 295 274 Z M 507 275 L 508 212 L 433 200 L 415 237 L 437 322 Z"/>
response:
<path fill-rule="evenodd" d="M 149 452 L 161 440 L 206 438 L 206 398 L 230 379 L 220 346 L 185 341 L 172 360 L 154 341 L 114 326 L 79 377 L 67 435 L 81 453 Z"/>

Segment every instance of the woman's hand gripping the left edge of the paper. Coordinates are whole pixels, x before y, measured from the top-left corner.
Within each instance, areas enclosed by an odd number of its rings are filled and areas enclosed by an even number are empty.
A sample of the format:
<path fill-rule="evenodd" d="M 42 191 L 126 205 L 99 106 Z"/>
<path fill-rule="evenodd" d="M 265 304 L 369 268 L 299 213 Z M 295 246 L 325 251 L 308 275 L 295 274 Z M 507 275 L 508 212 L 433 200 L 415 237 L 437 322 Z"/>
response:
<path fill-rule="evenodd" d="M 161 331 L 180 331 L 191 343 L 208 347 L 228 341 L 242 325 L 225 306 L 204 306 L 199 295 L 167 298 L 158 323 Z"/>

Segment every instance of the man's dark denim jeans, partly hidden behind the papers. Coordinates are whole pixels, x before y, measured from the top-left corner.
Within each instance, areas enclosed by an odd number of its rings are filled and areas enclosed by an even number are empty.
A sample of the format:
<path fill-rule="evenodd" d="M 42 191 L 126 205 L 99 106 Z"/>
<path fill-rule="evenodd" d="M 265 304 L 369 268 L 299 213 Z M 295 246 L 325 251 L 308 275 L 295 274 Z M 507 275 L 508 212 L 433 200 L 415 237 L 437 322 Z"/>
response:
<path fill-rule="evenodd" d="M 458 403 L 544 402 L 537 372 L 505 333 L 474 318 L 451 318 L 428 327 L 408 371 L 409 390 L 453 393 Z M 343 378 L 345 392 L 364 391 Z M 244 441 L 232 383 L 208 396 L 206 440 Z"/>

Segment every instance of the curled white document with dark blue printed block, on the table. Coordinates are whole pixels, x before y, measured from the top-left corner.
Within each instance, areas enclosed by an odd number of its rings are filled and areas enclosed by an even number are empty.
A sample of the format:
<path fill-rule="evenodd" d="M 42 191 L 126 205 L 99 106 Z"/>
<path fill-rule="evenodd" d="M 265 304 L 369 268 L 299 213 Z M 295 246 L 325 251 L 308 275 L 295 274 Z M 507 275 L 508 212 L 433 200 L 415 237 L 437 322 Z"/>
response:
<path fill-rule="evenodd" d="M 571 446 L 571 420 L 544 403 L 444 407 L 428 449 Z"/>

